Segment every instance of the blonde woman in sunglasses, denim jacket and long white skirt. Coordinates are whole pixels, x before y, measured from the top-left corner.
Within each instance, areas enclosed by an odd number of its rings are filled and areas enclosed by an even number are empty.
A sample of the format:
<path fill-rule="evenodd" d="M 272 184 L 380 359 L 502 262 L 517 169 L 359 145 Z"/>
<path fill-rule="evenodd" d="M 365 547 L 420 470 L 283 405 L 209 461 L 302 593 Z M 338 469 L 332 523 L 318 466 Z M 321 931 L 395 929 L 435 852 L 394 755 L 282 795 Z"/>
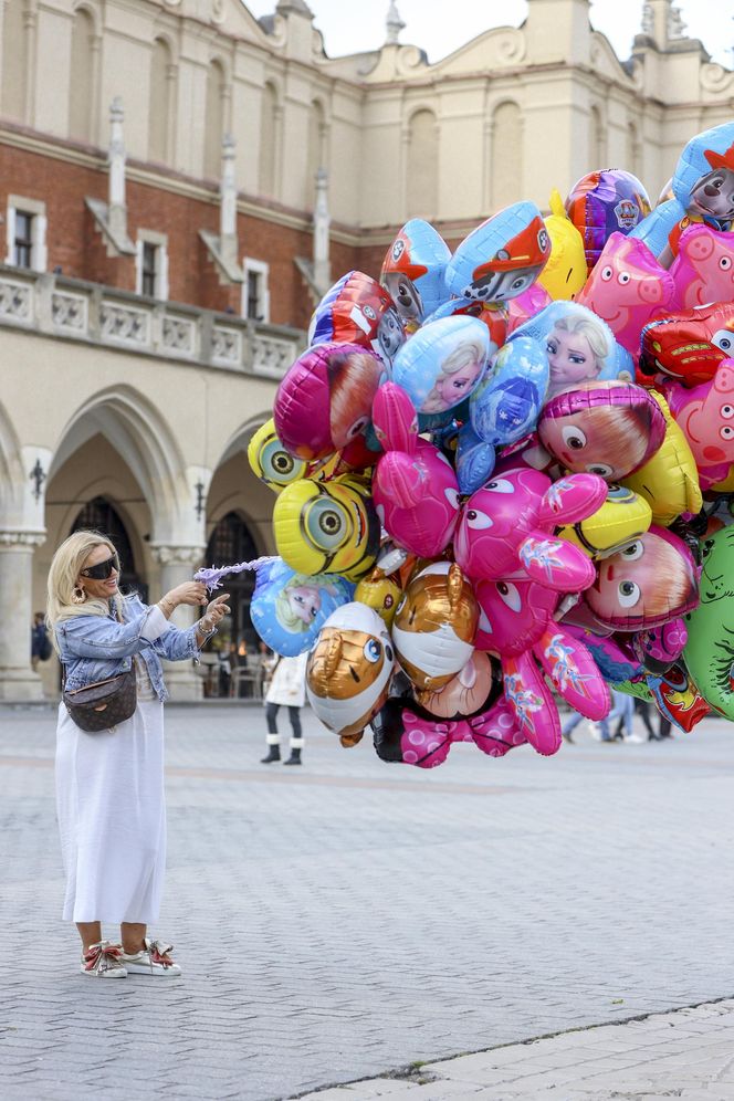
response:
<path fill-rule="evenodd" d="M 65 689 L 84 688 L 135 668 L 137 705 L 118 726 L 87 734 L 59 707 L 56 805 L 66 872 L 63 918 L 76 922 L 81 969 L 101 978 L 128 974 L 175 977 L 172 945 L 149 940 L 166 863 L 161 658 L 198 659 L 227 615 L 228 594 L 188 630 L 168 620 L 179 605 L 207 605 L 207 590 L 186 581 L 157 605 L 117 588 L 119 560 L 98 532 L 75 532 L 53 556 L 46 622 Z M 120 944 L 102 924 L 119 925 Z"/>

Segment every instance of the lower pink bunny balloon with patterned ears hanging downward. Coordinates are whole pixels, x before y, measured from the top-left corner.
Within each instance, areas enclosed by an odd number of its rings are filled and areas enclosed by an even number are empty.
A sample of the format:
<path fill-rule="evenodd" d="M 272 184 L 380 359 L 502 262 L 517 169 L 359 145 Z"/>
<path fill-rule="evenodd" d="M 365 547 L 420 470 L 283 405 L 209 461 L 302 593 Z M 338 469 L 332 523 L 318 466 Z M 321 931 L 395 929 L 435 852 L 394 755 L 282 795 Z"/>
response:
<path fill-rule="evenodd" d="M 595 570 L 586 560 L 590 585 Z M 562 600 L 555 588 L 521 572 L 512 579 L 480 581 L 476 597 L 481 616 L 475 644 L 499 654 L 505 698 L 534 749 L 552 754 L 560 745 L 558 710 L 544 673 L 558 694 L 587 719 L 608 714 L 609 690 L 594 658 L 554 618 Z"/>

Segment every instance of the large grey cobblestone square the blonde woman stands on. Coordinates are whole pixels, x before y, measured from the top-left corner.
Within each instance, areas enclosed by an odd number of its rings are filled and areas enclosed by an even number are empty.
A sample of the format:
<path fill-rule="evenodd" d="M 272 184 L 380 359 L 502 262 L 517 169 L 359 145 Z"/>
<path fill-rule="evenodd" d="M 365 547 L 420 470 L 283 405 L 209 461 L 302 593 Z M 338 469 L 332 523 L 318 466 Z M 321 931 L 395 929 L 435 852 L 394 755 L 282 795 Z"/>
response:
<path fill-rule="evenodd" d="M 266 1101 L 734 994 L 723 722 L 424 774 L 311 713 L 304 767 L 260 765 L 260 709 L 170 707 L 171 983 L 76 969 L 54 726 L 0 710 L 3 1101 Z"/>

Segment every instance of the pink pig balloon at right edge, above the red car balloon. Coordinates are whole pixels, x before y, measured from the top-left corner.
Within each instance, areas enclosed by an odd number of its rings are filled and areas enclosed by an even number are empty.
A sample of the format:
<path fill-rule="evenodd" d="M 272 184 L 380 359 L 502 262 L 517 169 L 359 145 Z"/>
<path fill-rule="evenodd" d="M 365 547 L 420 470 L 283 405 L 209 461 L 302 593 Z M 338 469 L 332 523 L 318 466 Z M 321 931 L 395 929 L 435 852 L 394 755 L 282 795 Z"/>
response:
<path fill-rule="evenodd" d="M 689 226 L 670 266 L 685 310 L 734 298 L 734 233 Z"/>

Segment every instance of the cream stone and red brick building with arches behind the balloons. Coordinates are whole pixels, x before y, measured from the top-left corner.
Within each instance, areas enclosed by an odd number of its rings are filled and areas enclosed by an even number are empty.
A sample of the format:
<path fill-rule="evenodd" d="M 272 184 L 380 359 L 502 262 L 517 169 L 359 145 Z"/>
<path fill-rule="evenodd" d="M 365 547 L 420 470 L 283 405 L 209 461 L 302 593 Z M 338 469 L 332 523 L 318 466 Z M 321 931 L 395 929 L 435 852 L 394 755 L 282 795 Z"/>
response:
<path fill-rule="evenodd" d="M 106 524 L 154 596 L 272 549 L 244 451 L 332 275 L 376 274 L 409 217 L 453 244 L 594 167 L 657 193 L 732 117 L 734 74 L 670 0 L 625 62 L 588 0 L 528 0 L 436 64 L 386 8 L 380 50 L 329 59 L 304 0 L 0 4 L 0 699 L 56 689 L 24 625 L 73 526 Z"/>

